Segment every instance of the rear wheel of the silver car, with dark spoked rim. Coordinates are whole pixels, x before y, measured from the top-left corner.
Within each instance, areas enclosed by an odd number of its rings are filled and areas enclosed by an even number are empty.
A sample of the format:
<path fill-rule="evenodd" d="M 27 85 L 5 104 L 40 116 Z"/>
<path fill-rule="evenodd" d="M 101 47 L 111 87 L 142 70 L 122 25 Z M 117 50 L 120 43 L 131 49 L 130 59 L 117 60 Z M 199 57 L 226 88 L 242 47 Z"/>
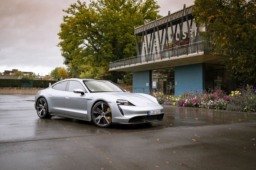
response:
<path fill-rule="evenodd" d="M 48 104 L 45 98 L 39 98 L 36 102 L 36 112 L 39 118 L 47 119 L 51 117 L 48 112 Z"/>

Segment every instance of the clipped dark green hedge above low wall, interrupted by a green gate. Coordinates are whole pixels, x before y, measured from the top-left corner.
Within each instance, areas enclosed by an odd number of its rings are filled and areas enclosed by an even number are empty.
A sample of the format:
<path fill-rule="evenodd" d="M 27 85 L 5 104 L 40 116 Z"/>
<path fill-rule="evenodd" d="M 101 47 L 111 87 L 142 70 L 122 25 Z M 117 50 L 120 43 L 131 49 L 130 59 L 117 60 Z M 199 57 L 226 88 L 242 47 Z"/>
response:
<path fill-rule="evenodd" d="M 53 80 L 33 80 L 33 87 L 46 88 L 49 83 L 54 84 Z M 19 79 L 0 79 L 0 87 L 22 87 L 22 81 Z"/>

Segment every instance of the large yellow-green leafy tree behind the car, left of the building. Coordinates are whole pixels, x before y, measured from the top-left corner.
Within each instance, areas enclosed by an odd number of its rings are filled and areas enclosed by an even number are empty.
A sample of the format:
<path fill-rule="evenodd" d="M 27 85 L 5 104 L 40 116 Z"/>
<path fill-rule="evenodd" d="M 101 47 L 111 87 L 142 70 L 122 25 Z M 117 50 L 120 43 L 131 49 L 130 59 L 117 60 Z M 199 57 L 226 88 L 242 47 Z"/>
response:
<path fill-rule="evenodd" d="M 158 15 L 155 0 L 97 0 L 71 4 L 60 25 L 59 46 L 64 63 L 75 77 L 79 65 L 104 67 L 109 62 L 136 55 L 134 27 Z M 113 72 L 116 77 L 122 73 Z"/>

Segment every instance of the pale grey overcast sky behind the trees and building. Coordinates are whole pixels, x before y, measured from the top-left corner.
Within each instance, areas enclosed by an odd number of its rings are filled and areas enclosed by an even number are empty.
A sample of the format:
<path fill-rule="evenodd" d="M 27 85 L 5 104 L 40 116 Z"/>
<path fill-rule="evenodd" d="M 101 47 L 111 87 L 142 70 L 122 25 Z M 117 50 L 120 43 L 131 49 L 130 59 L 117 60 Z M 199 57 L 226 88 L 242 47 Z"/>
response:
<path fill-rule="evenodd" d="M 60 42 L 57 33 L 65 15 L 62 9 L 76 0 L 0 1 L 0 72 L 18 69 L 46 75 L 55 67 L 65 67 L 56 46 Z M 160 14 L 166 16 L 193 1 L 158 0 Z"/>

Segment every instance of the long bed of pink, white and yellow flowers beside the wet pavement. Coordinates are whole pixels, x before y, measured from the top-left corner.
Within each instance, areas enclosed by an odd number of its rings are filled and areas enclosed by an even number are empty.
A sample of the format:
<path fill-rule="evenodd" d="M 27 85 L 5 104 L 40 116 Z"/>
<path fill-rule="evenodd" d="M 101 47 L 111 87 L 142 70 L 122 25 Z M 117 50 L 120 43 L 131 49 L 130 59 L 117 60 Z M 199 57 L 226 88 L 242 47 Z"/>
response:
<path fill-rule="evenodd" d="M 151 95 L 162 105 L 242 112 L 256 111 L 256 89 L 249 85 L 231 92 L 231 95 L 227 95 L 222 90 L 185 91 L 185 93 L 177 97 L 165 95 L 157 90 L 152 92 Z"/>

